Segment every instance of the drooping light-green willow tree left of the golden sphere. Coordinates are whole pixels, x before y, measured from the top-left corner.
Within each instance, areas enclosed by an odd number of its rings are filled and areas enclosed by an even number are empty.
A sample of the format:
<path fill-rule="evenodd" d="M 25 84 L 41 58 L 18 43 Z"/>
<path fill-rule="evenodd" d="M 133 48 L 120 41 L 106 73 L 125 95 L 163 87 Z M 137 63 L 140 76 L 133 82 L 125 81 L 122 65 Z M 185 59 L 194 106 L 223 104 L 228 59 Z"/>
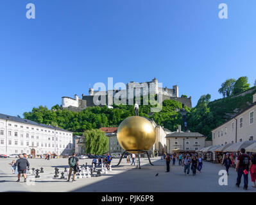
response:
<path fill-rule="evenodd" d="M 105 154 L 108 151 L 108 137 L 100 129 L 87 130 L 85 136 L 85 153 Z"/>

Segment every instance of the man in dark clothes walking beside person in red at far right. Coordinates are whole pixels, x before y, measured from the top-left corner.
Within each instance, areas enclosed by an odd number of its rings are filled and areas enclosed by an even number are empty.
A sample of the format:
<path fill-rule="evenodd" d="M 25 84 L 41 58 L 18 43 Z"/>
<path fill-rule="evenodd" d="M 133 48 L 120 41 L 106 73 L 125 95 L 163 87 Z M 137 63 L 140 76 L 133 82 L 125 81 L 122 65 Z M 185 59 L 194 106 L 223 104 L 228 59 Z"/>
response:
<path fill-rule="evenodd" d="M 244 190 L 248 188 L 248 172 L 251 168 L 252 161 L 248 154 L 245 154 L 245 149 L 240 150 L 240 155 L 237 157 L 237 163 L 235 165 L 235 171 L 237 172 L 237 183 L 235 184 L 239 187 L 241 183 L 241 177 L 244 176 Z"/>

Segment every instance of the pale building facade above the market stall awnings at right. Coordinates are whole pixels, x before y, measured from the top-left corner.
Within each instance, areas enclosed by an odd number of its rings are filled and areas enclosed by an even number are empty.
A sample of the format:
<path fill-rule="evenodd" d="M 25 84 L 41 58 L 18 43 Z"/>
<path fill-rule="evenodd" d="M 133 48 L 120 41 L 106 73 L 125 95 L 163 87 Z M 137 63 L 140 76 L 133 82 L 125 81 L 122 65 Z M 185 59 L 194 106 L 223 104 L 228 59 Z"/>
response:
<path fill-rule="evenodd" d="M 248 106 L 246 110 L 212 130 L 212 145 L 256 140 L 255 112 L 256 94 L 253 95 L 253 104 L 251 106 Z"/>

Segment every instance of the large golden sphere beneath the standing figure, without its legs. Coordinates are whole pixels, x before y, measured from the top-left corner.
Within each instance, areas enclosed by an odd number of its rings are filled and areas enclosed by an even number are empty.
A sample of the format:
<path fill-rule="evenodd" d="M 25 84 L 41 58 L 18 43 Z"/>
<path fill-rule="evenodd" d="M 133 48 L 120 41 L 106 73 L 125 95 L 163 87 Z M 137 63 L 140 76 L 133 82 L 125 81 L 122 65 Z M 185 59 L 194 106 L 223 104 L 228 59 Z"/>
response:
<path fill-rule="evenodd" d="M 128 117 L 117 129 L 119 145 L 134 154 L 138 153 L 138 150 L 149 151 L 155 143 L 155 138 L 155 128 L 144 117 Z"/>

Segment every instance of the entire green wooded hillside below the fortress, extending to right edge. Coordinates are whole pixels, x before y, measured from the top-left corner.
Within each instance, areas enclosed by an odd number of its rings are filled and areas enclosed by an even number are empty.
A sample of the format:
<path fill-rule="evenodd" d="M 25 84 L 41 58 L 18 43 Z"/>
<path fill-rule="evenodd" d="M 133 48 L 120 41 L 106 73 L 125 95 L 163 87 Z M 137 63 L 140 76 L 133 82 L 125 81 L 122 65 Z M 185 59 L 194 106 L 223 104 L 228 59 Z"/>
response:
<path fill-rule="evenodd" d="M 185 107 L 188 129 L 207 136 L 208 140 L 211 140 L 212 129 L 220 126 L 252 104 L 256 86 L 250 88 L 248 78 L 244 76 L 237 80 L 227 79 L 219 88 L 219 92 L 223 94 L 222 99 L 211 102 L 210 94 L 202 95 L 194 108 Z M 139 115 L 151 118 L 157 124 L 171 131 L 175 131 L 179 124 L 182 125 L 183 129 L 183 120 L 180 114 L 182 103 L 167 99 L 163 102 L 162 110 L 158 113 L 150 113 L 151 107 L 153 106 L 140 106 Z M 109 109 L 107 106 L 97 106 L 74 112 L 62 109 L 57 104 L 51 110 L 48 110 L 46 106 L 33 108 L 32 111 L 24 113 L 24 118 L 62 127 L 81 135 L 83 131 L 90 129 L 118 126 L 124 119 L 132 115 L 133 106 L 128 105 L 114 105 L 113 109 Z"/>

